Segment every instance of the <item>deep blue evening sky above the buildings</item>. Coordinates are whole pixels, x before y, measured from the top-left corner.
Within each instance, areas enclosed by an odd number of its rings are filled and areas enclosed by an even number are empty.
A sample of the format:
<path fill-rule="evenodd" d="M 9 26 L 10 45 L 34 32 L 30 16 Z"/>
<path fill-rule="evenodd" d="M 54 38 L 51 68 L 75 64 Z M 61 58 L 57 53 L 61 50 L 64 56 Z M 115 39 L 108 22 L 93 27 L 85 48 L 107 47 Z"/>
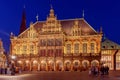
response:
<path fill-rule="evenodd" d="M 98 31 L 100 26 L 107 38 L 120 43 L 120 0 L 51 0 L 58 19 L 81 18 Z M 0 0 L 0 37 L 8 51 L 9 35 L 18 35 L 23 6 L 26 9 L 27 27 L 30 22 L 46 20 L 50 0 Z"/>

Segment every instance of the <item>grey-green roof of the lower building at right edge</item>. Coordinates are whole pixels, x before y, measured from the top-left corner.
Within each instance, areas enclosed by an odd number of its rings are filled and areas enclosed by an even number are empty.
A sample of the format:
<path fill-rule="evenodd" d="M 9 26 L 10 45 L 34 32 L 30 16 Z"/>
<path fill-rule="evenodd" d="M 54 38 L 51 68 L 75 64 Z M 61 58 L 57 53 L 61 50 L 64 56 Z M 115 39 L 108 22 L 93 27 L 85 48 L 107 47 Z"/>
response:
<path fill-rule="evenodd" d="M 103 41 L 102 41 L 102 45 L 101 45 L 101 49 L 120 49 L 120 45 L 105 38 Z"/>

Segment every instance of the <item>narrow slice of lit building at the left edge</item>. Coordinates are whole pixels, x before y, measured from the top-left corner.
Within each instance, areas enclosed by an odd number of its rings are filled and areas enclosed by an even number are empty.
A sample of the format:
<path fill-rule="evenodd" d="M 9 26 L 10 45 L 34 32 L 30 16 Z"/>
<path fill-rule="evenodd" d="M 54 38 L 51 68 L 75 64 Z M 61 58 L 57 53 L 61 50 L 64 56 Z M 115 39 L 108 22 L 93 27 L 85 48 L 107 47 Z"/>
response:
<path fill-rule="evenodd" d="M 6 56 L 4 54 L 3 42 L 0 39 L 0 67 L 6 67 Z"/>

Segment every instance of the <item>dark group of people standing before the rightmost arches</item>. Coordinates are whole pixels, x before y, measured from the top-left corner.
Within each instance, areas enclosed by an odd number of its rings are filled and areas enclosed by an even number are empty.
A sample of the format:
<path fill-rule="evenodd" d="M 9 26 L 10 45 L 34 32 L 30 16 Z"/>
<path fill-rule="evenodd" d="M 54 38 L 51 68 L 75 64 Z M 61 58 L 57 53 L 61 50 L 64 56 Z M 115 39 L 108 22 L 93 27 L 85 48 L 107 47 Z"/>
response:
<path fill-rule="evenodd" d="M 101 67 L 98 67 L 98 66 L 92 66 L 90 69 L 89 69 L 89 75 L 108 75 L 109 74 L 109 67 L 108 66 L 101 66 Z"/>

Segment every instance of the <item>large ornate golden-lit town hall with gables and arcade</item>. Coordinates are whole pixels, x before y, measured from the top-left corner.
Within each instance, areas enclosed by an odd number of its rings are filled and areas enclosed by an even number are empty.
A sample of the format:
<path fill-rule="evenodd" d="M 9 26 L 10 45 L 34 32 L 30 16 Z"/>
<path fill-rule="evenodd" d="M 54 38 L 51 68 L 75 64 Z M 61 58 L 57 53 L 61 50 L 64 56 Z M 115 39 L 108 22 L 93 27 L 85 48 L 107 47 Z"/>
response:
<path fill-rule="evenodd" d="M 37 18 L 38 20 L 38 18 Z M 100 65 L 102 31 L 84 18 L 57 20 L 53 8 L 18 36 L 11 33 L 10 54 L 23 70 L 80 70 Z"/>

